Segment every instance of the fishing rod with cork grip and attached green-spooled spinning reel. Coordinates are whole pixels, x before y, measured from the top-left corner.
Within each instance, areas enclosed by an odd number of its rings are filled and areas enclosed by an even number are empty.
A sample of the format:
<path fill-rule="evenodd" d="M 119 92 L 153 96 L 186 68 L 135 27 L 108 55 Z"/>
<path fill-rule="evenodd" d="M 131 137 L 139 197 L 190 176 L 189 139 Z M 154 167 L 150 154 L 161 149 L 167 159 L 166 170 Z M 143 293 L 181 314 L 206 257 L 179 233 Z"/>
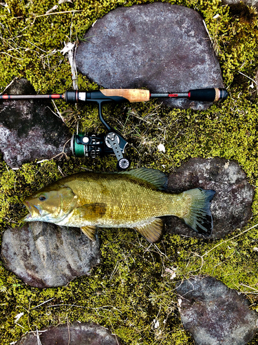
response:
<path fill-rule="evenodd" d="M 107 134 L 88 135 L 76 132 L 71 139 L 72 154 L 76 157 L 92 157 L 103 155 L 116 155 L 118 170 L 129 168 L 129 159 L 125 153 L 127 141 L 120 133 L 111 128 L 103 118 L 102 107 L 104 103 L 115 102 L 144 102 L 151 98 L 187 98 L 193 101 L 219 101 L 228 97 L 228 92 L 223 88 L 204 88 L 189 90 L 189 92 L 151 93 L 149 90 L 138 89 L 103 89 L 98 91 L 65 91 L 63 94 L 52 95 L 0 95 L 0 99 L 64 99 L 67 103 L 92 102 L 98 103 L 98 116 L 107 128 Z"/>

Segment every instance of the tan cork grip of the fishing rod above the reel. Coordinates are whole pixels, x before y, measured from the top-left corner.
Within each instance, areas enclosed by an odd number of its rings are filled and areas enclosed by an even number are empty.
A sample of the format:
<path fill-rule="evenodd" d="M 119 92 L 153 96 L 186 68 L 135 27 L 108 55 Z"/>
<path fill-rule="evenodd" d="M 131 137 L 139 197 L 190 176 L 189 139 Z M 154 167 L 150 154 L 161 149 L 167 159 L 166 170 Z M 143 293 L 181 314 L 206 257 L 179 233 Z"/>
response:
<path fill-rule="evenodd" d="M 149 90 L 138 90 L 138 89 L 131 89 L 131 88 L 125 88 L 125 89 L 104 89 L 100 90 L 100 92 L 103 93 L 103 95 L 107 97 L 123 97 L 127 99 L 127 101 L 133 103 L 133 102 L 145 102 L 149 101 L 150 99 L 150 92 Z"/>

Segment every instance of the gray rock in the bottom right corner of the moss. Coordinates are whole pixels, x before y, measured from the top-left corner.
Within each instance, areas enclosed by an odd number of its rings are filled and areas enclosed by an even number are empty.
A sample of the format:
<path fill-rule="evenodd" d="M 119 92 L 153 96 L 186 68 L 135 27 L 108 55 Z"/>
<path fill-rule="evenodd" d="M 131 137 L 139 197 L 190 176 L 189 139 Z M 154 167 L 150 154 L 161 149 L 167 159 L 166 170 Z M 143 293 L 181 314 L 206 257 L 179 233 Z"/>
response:
<path fill-rule="evenodd" d="M 195 345 L 244 345 L 258 331 L 258 313 L 236 290 L 213 277 L 196 276 L 176 284 L 184 328 Z"/>

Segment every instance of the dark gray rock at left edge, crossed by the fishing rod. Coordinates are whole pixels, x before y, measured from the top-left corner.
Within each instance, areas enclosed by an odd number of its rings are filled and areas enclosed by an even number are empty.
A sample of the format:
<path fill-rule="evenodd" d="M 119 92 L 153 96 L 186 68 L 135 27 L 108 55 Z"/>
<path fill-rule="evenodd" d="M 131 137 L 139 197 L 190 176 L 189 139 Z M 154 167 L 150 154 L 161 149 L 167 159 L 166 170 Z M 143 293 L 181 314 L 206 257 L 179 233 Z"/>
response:
<path fill-rule="evenodd" d="M 26 79 L 14 81 L 8 95 L 35 95 Z M 0 102 L 0 149 L 11 168 L 36 159 L 50 159 L 63 151 L 71 133 L 50 110 L 50 100 L 3 100 Z M 69 153 L 69 145 L 65 152 Z"/>

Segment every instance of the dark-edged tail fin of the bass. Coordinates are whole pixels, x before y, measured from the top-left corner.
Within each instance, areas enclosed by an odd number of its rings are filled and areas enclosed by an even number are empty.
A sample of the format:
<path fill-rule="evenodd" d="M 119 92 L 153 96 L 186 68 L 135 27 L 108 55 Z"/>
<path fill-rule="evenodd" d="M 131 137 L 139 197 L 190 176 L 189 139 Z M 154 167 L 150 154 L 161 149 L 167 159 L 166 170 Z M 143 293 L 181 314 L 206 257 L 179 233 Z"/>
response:
<path fill-rule="evenodd" d="M 195 188 L 186 190 L 185 195 L 191 196 L 189 213 L 183 217 L 184 222 L 197 233 L 211 235 L 213 230 L 213 216 L 211 215 L 211 200 L 215 190 Z"/>

